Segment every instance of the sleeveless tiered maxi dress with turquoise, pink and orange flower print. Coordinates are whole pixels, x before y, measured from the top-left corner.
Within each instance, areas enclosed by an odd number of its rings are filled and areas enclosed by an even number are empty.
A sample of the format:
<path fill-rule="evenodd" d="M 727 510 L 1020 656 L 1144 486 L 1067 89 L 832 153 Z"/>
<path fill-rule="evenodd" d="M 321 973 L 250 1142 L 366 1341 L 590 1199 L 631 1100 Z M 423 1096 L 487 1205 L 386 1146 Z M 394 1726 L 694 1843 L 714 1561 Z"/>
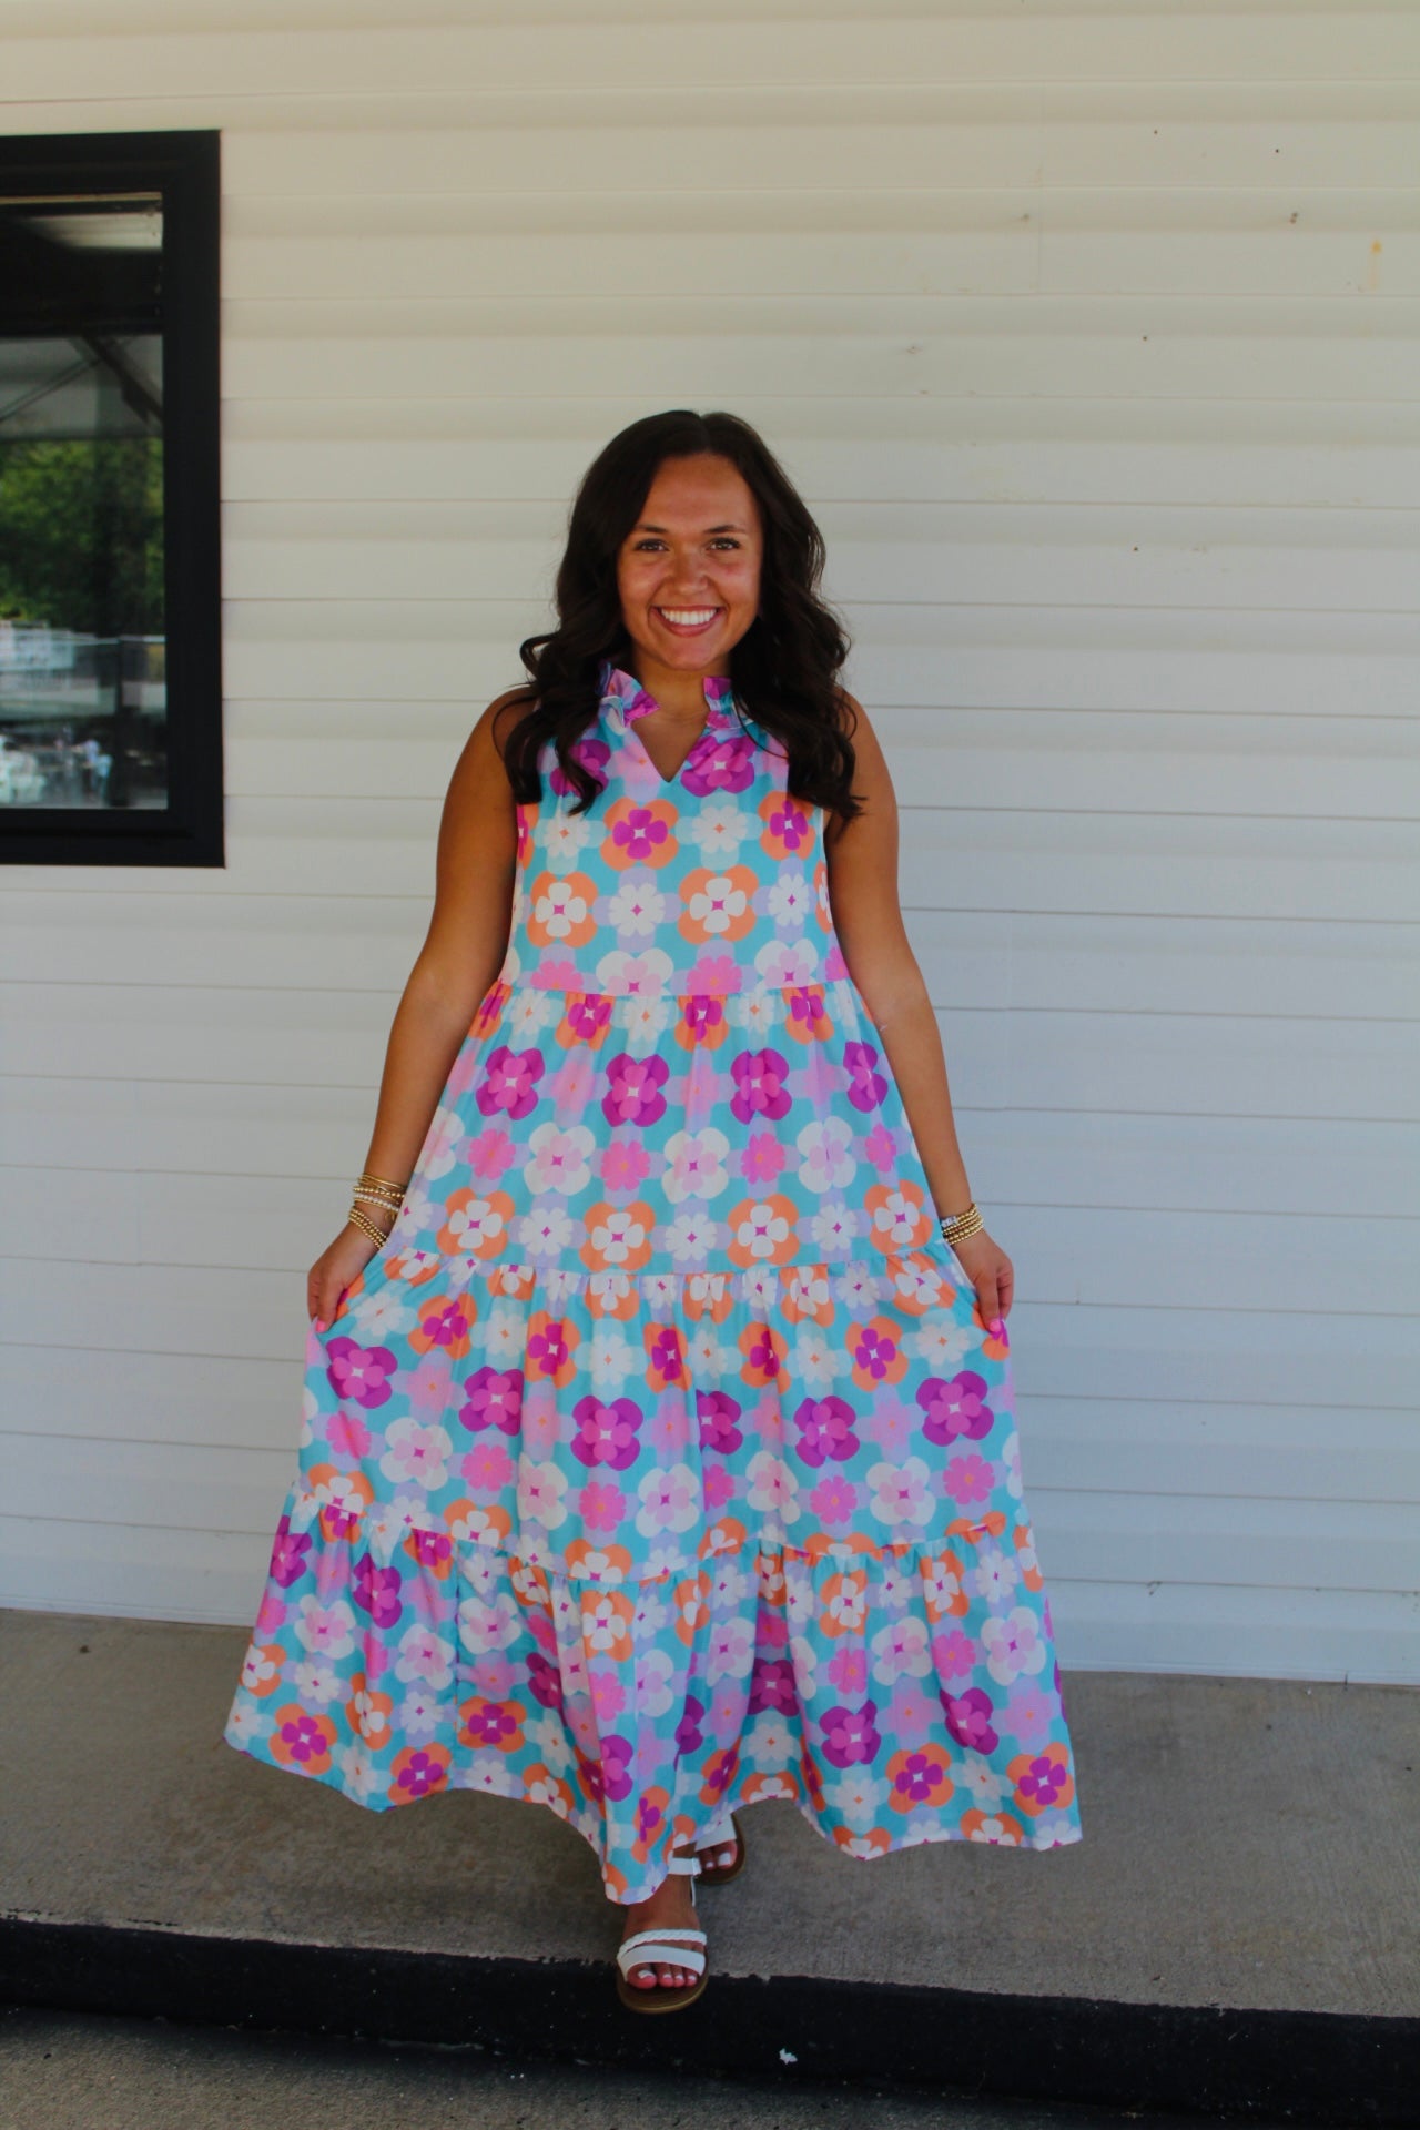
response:
<path fill-rule="evenodd" d="M 311 1331 L 228 1740 L 547 1804 L 613 1900 L 730 1806 L 847 1855 L 1079 1840 L 1007 1338 L 941 1238 L 824 814 L 602 669 L 390 1242 Z"/>

